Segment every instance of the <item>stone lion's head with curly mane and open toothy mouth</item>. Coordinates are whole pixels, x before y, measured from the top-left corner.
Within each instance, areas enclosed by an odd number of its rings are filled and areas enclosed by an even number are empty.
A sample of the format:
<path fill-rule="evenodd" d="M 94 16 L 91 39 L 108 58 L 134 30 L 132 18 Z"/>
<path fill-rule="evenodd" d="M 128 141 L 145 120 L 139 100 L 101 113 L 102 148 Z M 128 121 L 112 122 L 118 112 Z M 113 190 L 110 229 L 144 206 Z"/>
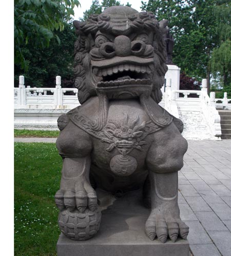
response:
<path fill-rule="evenodd" d="M 86 22 L 73 22 L 75 87 L 83 104 L 94 95 L 108 99 L 148 94 L 159 103 L 167 71 L 164 30 L 150 12 L 130 7 L 107 8 Z"/>

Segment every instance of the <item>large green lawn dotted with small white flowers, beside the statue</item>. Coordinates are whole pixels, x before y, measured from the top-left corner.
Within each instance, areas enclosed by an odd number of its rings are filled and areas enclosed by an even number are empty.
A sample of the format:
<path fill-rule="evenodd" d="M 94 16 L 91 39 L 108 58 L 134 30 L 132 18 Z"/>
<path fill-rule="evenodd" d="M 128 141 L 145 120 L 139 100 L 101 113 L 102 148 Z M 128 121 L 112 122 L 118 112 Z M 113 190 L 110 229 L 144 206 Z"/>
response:
<path fill-rule="evenodd" d="M 14 168 L 14 255 L 54 256 L 62 158 L 53 143 L 15 143 Z"/>

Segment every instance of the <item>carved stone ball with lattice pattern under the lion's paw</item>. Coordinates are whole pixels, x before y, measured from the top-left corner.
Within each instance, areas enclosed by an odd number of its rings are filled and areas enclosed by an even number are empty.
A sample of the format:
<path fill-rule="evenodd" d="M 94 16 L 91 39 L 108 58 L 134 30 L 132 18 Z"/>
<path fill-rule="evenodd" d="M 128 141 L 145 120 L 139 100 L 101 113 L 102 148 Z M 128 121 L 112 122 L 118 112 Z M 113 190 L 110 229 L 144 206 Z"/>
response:
<path fill-rule="evenodd" d="M 59 227 L 61 231 L 72 240 L 88 240 L 93 237 L 100 227 L 101 212 L 86 209 L 84 213 L 79 210 L 65 209 L 59 214 Z"/>

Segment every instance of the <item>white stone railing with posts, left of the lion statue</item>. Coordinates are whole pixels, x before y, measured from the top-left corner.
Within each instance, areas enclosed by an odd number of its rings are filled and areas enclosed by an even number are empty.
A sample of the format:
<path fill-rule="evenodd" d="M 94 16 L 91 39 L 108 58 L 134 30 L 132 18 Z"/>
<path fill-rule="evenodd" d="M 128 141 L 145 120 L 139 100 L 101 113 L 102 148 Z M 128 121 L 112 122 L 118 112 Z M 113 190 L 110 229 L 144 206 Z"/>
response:
<path fill-rule="evenodd" d="M 73 92 L 75 95 L 65 95 Z M 25 87 L 24 76 L 20 76 L 18 88 L 14 88 L 14 108 L 72 109 L 80 105 L 78 89 L 62 88 L 61 77 L 56 76 L 55 88 Z"/>

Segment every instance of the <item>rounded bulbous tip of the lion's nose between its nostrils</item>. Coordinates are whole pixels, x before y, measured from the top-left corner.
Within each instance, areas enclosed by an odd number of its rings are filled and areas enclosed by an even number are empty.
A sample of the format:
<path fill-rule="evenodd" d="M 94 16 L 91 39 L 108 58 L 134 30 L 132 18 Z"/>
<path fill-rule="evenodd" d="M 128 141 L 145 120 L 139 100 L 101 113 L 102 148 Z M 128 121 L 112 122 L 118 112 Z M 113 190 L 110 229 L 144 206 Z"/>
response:
<path fill-rule="evenodd" d="M 118 36 L 114 39 L 114 48 L 117 56 L 129 56 L 131 54 L 131 40 L 126 36 Z"/>

